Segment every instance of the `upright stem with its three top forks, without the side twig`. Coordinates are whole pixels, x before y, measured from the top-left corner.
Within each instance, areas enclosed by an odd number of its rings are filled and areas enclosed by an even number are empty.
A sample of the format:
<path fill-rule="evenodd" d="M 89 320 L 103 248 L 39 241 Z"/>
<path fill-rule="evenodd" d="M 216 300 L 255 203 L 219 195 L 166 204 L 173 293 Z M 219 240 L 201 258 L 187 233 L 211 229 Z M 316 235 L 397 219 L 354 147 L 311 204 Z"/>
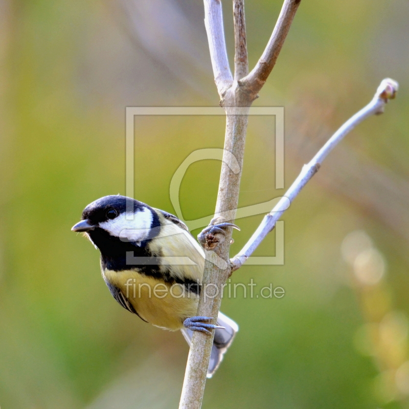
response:
<path fill-rule="evenodd" d="M 235 81 L 233 81 L 224 40 L 221 1 L 204 0 L 205 26 L 209 39 L 213 73 L 221 99 L 220 104 L 226 112 L 225 153 L 221 165 L 215 217 L 223 214 L 228 221 L 234 221 L 236 217 L 248 109 L 274 67 L 300 1 L 284 0 L 283 9 L 266 51 L 260 58 L 256 68 L 250 74 L 247 74 L 244 0 L 233 0 L 235 28 Z M 237 110 L 237 107 L 241 107 L 241 109 Z M 240 170 L 236 174 L 227 164 L 231 154 L 235 156 L 240 166 Z M 223 285 L 232 271 L 229 261 L 232 228 L 226 229 L 225 235 L 217 235 L 219 242 L 214 252 L 206 252 L 205 271 L 203 272 L 202 290 L 197 309 L 197 315 L 213 317 L 213 324 L 216 324 Z M 212 263 L 212 260 L 215 259 L 218 261 L 221 259 L 224 261 L 224 265 L 221 265 L 220 262 Z M 213 333 L 209 336 L 199 331 L 193 332 L 179 409 L 200 409 L 201 407 L 213 336 Z"/>

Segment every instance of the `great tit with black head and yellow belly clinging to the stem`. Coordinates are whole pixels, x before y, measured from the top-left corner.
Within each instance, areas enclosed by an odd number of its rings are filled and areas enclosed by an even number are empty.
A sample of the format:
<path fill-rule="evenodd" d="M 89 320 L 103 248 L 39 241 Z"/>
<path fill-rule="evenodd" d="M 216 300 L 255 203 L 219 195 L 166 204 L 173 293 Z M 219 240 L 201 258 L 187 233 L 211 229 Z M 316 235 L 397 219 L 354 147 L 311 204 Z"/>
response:
<path fill-rule="evenodd" d="M 181 330 L 189 345 L 193 331 L 215 330 L 210 378 L 238 326 L 220 312 L 217 325 L 196 316 L 205 253 L 188 227 L 173 214 L 117 195 L 86 206 L 72 230 L 100 250 L 102 277 L 123 308 L 156 327 Z"/>

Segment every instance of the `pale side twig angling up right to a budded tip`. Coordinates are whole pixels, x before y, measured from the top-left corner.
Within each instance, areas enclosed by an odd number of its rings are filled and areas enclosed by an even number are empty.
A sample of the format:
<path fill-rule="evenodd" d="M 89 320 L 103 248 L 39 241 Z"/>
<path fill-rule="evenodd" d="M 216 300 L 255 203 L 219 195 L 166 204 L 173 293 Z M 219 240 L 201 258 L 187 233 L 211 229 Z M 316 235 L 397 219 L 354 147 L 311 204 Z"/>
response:
<path fill-rule="evenodd" d="M 293 182 L 290 188 L 287 190 L 283 198 L 277 203 L 277 205 L 272 209 L 266 216 L 264 216 L 263 221 L 260 226 L 252 235 L 251 239 L 246 243 L 242 250 L 233 257 L 231 260 L 232 271 L 239 269 L 244 262 L 252 255 L 254 250 L 259 246 L 259 244 L 264 240 L 265 236 L 274 229 L 276 222 L 281 218 L 285 209 L 288 208 L 288 200 L 290 203 L 298 196 L 301 189 L 307 184 L 307 182 L 315 175 L 315 173 L 320 169 L 322 162 L 331 152 L 331 150 L 340 142 L 342 139 L 353 130 L 353 128 L 361 123 L 363 120 L 367 119 L 372 115 L 377 115 L 383 113 L 385 104 L 389 99 L 395 98 L 398 90 L 398 83 L 393 79 L 384 79 L 372 101 L 365 107 L 363 107 L 359 112 L 357 112 L 353 117 L 351 117 L 347 122 L 342 125 L 338 131 L 327 141 L 327 143 L 319 150 L 319 152 L 312 158 L 312 160 L 304 165 L 298 178 Z"/>

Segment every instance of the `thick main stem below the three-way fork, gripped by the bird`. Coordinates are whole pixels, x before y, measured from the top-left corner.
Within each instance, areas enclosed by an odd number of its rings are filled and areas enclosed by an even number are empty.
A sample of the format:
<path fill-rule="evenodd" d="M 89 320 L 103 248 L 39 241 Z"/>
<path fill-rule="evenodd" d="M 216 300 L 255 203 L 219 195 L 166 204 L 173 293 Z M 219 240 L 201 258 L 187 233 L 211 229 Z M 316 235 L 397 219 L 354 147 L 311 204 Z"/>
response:
<path fill-rule="evenodd" d="M 235 112 L 235 110 L 228 109 L 228 112 Z M 228 165 L 229 160 L 223 159 L 215 216 L 223 214 L 229 221 L 234 221 L 238 205 L 247 120 L 248 115 L 245 113 L 243 115 L 243 109 L 240 110 L 240 114 L 226 116 L 224 152 L 236 157 L 240 170 L 235 174 Z M 205 288 L 206 291 L 200 292 L 197 315 L 214 317 L 212 324 L 216 324 L 223 285 L 231 274 L 229 263 L 231 238 L 232 229 L 228 228 L 225 236 L 220 237 L 220 242 L 214 252 L 206 251 L 202 280 L 202 288 Z M 220 259 L 224 261 L 224 266 L 217 261 Z M 213 335 L 209 336 L 199 331 L 193 332 L 179 409 L 200 409 L 205 391 Z"/>

